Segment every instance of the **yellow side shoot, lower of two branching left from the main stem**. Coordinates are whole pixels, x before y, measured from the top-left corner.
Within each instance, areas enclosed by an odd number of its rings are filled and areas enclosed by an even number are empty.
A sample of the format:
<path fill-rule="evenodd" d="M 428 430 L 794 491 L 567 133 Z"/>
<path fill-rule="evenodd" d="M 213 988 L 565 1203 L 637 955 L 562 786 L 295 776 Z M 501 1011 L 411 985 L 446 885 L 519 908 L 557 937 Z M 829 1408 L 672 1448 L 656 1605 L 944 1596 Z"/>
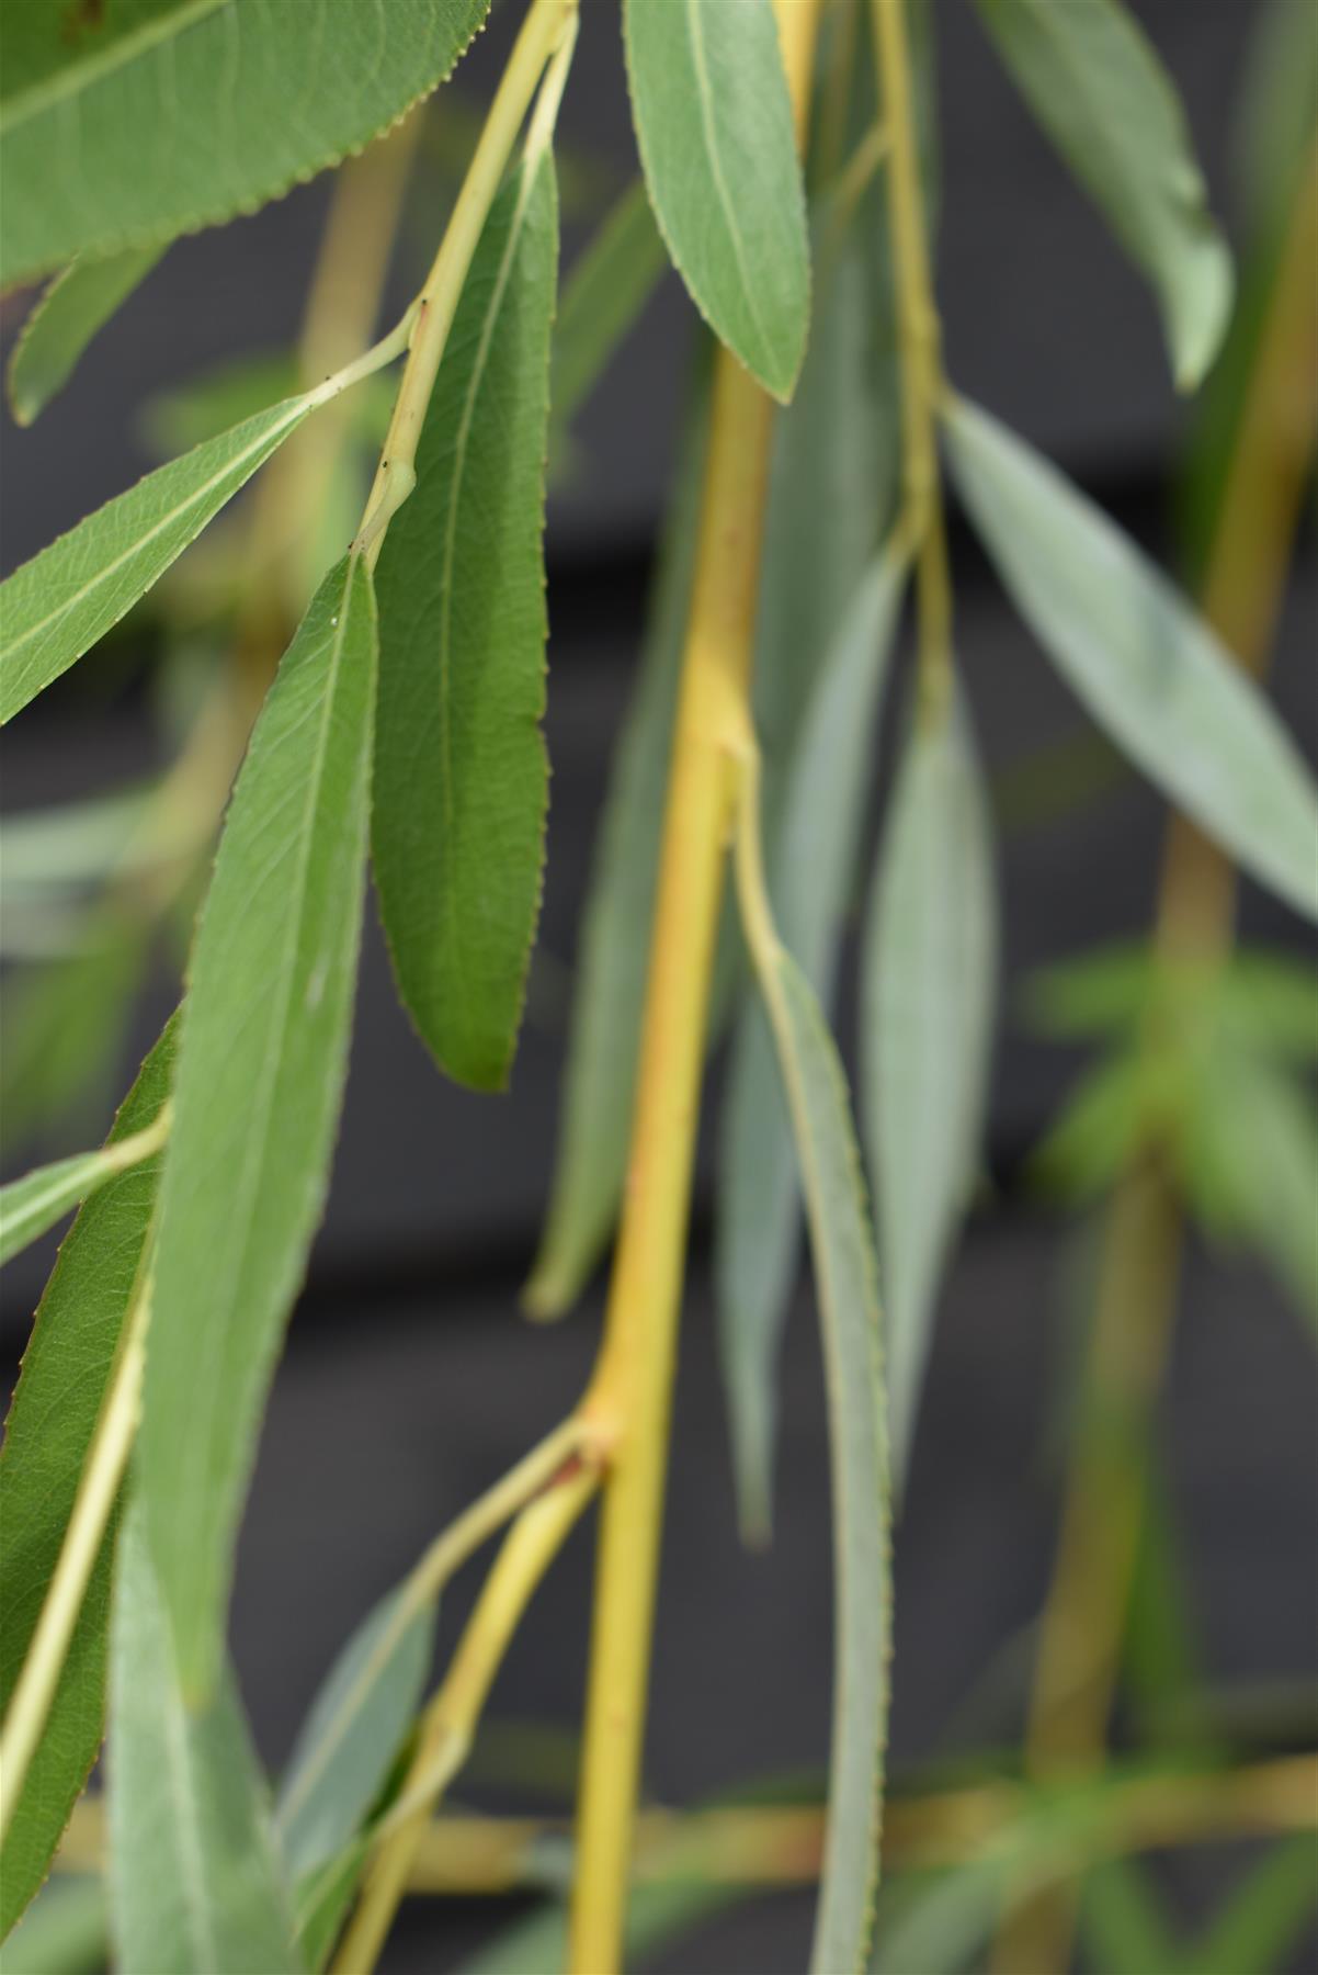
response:
<path fill-rule="evenodd" d="M 430 1811 L 462 1768 L 485 1695 L 535 1588 L 562 1548 L 600 1483 L 598 1467 L 576 1462 L 521 1511 L 505 1537 L 454 1663 L 420 1720 L 416 1756 L 383 1827 L 383 1843 L 361 1894 L 333 1975 L 369 1975 L 399 1900 L 406 1892 Z"/>

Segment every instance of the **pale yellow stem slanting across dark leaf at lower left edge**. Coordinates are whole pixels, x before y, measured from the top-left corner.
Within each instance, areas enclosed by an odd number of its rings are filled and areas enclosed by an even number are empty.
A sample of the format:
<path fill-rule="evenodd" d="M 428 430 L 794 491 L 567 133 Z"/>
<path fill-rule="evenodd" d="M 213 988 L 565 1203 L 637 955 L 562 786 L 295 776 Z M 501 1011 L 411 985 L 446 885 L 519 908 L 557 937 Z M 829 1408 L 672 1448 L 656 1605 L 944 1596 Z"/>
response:
<path fill-rule="evenodd" d="M 150 1240 L 148 1240 L 150 1246 Z M 41 1730 L 51 1710 L 77 1616 L 83 1610 L 87 1582 L 101 1554 L 118 1483 L 128 1465 L 132 1436 L 138 1426 L 142 1369 L 146 1365 L 146 1325 L 150 1319 L 150 1260 L 138 1272 L 138 1288 L 124 1325 L 118 1355 L 110 1371 L 101 1418 L 87 1452 L 87 1465 L 73 1501 L 73 1515 L 59 1550 L 59 1562 L 41 1604 L 36 1631 L 24 1657 L 4 1734 L 0 1736 L 0 1841 L 18 1811 L 24 1781 L 32 1766 Z"/>

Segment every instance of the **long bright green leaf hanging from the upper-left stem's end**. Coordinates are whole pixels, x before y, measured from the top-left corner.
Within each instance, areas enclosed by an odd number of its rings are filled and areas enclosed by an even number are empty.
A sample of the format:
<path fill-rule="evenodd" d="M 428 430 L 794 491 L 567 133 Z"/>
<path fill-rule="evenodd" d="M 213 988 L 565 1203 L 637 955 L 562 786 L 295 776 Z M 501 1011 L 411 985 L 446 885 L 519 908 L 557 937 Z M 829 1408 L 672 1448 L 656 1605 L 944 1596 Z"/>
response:
<path fill-rule="evenodd" d="M 138 1481 L 189 1702 L 219 1673 L 231 1552 L 326 1197 L 361 938 L 375 598 L 330 571 L 239 774 L 189 964 Z"/>

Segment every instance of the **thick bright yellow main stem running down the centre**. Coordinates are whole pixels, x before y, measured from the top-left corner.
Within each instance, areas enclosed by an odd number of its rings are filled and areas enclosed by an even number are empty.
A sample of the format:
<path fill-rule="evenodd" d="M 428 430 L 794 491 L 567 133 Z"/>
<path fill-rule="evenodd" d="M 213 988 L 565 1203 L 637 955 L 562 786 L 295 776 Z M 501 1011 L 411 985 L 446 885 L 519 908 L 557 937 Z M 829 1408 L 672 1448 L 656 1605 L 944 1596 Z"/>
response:
<path fill-rule="evenodd" d="M 779 0 L 803 134 L 817 8 Z M 773 409 L 720 352 L 700 541 L 669 770 L 649 980 L 604 1347 L 584 1400 L 614 1438 L 604 1487 L 568 1963 L 620 1965 L 663 1523 L 704 1029 L 724 863 L 750 729 L 760 543 Z"/>

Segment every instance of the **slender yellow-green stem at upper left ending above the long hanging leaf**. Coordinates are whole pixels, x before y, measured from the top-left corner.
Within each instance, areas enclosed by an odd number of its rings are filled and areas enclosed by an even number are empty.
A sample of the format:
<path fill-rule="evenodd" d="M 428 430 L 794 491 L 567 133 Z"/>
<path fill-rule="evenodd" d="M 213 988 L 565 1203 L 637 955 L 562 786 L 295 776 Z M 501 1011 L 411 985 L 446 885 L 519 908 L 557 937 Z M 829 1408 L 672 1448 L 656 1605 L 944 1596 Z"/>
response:
<path fill-rule="evenodd" d="M 418 298 L 412 348 L 357 531 L 357 547 L 365 553 L 371 569 L 379 559 L 389 521 L 416 484 L 416 442 L 426 419 L 426 405 L 440 371 L 462 284 L 468 278 L 472 255 L 499 190 L 499 180 L 541 87 L 545 67 L 558 53 L 564 38 L 572 36 L 574 22 L 576 0 L 531 0 L 531 10 L 489 105 L 468 176 Z"/>

